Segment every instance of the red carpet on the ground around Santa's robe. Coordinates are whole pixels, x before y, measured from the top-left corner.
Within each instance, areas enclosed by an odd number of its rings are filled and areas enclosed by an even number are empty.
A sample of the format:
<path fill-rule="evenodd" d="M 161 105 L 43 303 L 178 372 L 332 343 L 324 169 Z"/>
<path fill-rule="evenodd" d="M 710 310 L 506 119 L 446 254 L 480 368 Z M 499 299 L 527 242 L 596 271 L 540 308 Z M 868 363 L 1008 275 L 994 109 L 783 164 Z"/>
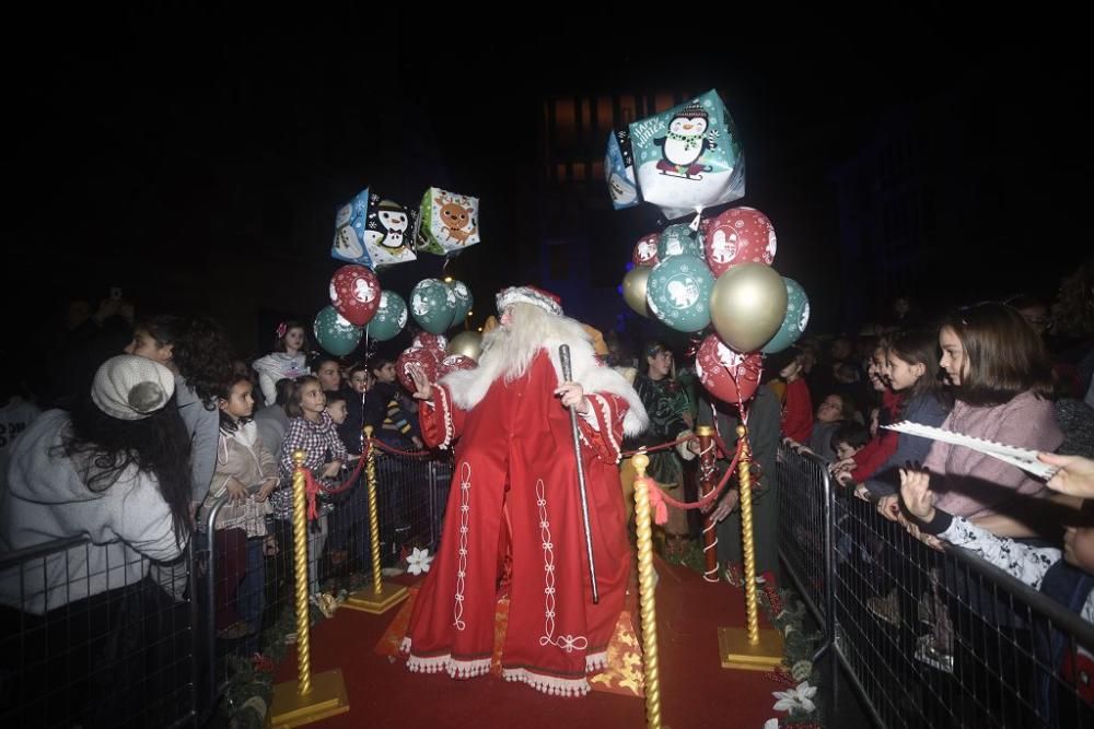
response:
<path fill-rule="evenodd" d="M 761 672 L 723 669 L 718 627 L 744 625 L 741 590 L 710 585 L 687 567 L 656 561 L 657 640 L 661 658 L 661 718 L 666 727 L 755 727 L 777 716 L 772 691 L 782 686 Z M 520 727 L 579 729 L 642 727 L 641 698 L 591 692 L 581 698 L 547 696 L 493 675 L 455 681 L 418 674 L 401 660 L 374 651 L 398 612 L 384 615 L 339 610 L 312 633 L 312 670 L 340 668 L 350 712 L 316 727 Z M 637 614 L 637 611 L 636 611 Z M 295 652 L 287 655 L 277 680 L 295 674 Z"/>

